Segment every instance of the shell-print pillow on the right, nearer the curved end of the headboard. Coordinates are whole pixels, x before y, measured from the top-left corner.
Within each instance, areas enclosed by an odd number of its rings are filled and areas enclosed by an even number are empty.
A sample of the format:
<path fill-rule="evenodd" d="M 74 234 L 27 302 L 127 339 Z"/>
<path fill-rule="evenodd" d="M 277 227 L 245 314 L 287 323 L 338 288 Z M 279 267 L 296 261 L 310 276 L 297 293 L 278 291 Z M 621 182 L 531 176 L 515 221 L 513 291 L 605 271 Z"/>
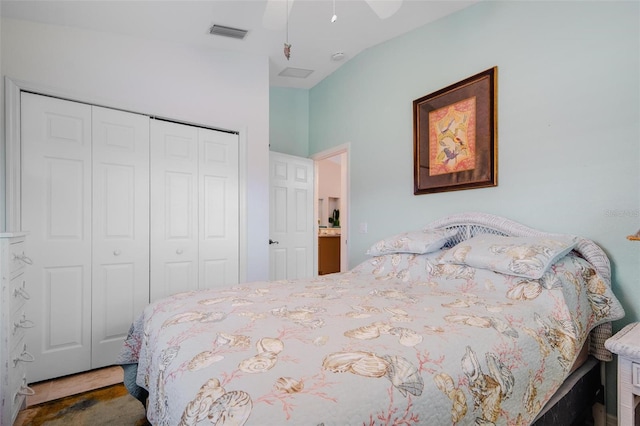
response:
<path fill-rule="evenodd" d="M 505 237 L 483 234 L 449 249 L 441 263 L 490 269 L 507 275 L 539 279 L 577 244 L 573 236 Z"/>

